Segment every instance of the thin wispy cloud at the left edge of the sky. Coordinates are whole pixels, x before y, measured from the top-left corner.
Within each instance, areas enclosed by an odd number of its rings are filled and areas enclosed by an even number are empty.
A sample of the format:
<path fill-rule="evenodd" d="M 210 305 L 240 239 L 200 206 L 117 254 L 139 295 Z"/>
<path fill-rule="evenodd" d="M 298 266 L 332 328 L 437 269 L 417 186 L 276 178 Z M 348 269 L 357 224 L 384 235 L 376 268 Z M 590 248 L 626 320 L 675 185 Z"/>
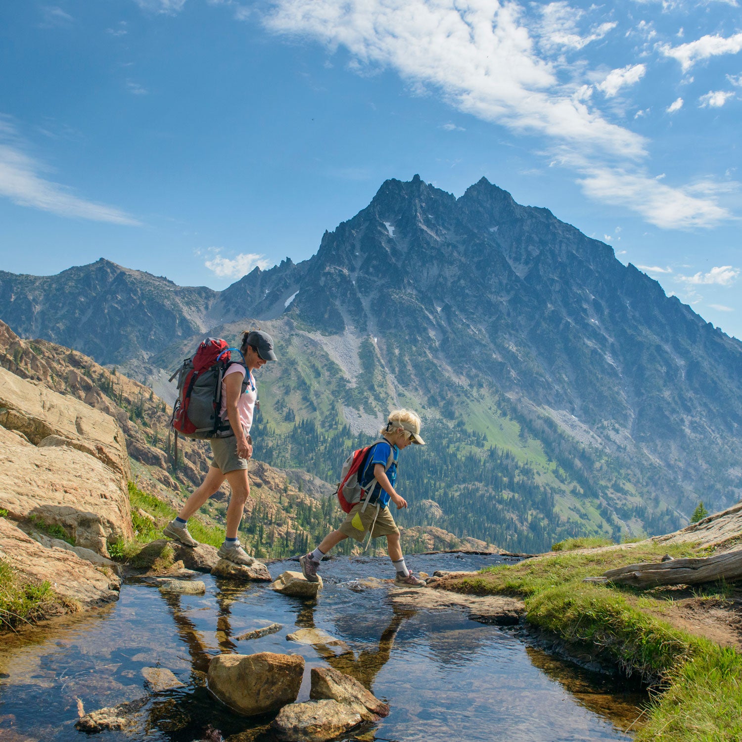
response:
<path fill-rule="evenodd" d="M 138 225 L 133 217 L 102 203 L 76 196 L 71 188 L 42 177 L 45 168 L 27 155 L 7 118 L 0 116 L 0 196 L 19 206 L 49 211 L 60 217 Z"/>

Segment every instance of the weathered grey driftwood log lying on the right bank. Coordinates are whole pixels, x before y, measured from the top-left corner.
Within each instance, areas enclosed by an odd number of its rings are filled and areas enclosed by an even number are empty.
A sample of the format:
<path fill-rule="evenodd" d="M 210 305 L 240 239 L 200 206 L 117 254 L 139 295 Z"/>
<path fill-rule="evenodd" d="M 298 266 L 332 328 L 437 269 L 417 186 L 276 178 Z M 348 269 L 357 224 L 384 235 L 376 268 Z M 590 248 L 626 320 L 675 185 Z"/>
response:
<path fill-rule="evenodd" d="M 615 585 L 655 588 L 657 585 L 698 585 L 701 582 L 742 580 L 742 551 L 728 551 L 716 557 L 669 559 L 666 562 L 632 564 L 609 569 L 605 581 Z M 600 578 L 598 578 L 600 580 Z"/>

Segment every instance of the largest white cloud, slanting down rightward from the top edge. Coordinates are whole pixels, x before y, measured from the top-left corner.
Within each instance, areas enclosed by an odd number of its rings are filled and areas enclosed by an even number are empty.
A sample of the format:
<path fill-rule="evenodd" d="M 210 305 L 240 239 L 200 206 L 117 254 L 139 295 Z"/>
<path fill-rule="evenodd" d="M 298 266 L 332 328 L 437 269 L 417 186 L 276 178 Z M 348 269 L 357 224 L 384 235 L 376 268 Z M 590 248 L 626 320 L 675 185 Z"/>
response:
<path fill-rule="evenodd" d="M 392 67 L 433 86 L 459 111 L 518 133 L 545 134 L 623 157 L 645 154 L 643 137 L 572 98 L 539 59 L 516 4 L 496 0 L 275 0 L 276 33 L 343 45 L 359 68 Z"/>

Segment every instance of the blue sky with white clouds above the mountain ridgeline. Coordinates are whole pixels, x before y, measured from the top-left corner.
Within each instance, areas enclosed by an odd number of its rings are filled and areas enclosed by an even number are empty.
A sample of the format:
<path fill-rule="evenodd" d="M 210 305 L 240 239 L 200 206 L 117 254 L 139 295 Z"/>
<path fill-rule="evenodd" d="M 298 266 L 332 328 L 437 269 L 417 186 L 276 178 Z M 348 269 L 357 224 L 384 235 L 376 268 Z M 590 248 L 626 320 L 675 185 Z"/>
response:
<path fill-rule="evenodd" d="M 0 7 L 0 267 L 223 288 L 482 175 L 742 338 L 736 0 Z"/>

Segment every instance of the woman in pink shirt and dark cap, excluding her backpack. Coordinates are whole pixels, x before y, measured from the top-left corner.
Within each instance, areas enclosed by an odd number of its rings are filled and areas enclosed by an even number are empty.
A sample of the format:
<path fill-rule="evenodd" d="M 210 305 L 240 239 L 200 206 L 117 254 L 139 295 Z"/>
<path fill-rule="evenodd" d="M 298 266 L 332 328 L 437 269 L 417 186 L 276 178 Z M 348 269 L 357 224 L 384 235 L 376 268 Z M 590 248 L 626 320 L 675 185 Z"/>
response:
<path fill-rule="evenodd" d="M 243 332 L 240 352 L 245 359 L 245 365 L 232 364 L 224 373 L 222 381 L 222 409 L 220 416 L 229 419 L 234 435 L 225 438 L 209 439 L 214 461 L 211 462 L 209 473 L 203 480 L 203 485 L 188 498 L 175 520 L 165 526 L 162 533 L 171 539 L 180 541 L 186 546 L 197 546 L 196 539 L 188 533 L 188 518 L 190 518 L 205 502 L 221 487 L 226 479 L 232 487 L 232 497 L 229 498 L 227 508 L 226 538 L 220 546 L 217 555 L 234 564 L 251 565 L 255 561 L 240 545 L 237 538 L 237 528 L 242 519 L 243 508 L 250 493 L 250 484 L 247 478 L 247 462 L 252 456 L 252 439 L 250 427 L 257 392 L 253 371 L 259 369 L 266 361 L 275 361 L 273 340 L 267 332 L 252 330 Z M 247 386 L 242 392 L 243 381 L 246 376 Z"/>

